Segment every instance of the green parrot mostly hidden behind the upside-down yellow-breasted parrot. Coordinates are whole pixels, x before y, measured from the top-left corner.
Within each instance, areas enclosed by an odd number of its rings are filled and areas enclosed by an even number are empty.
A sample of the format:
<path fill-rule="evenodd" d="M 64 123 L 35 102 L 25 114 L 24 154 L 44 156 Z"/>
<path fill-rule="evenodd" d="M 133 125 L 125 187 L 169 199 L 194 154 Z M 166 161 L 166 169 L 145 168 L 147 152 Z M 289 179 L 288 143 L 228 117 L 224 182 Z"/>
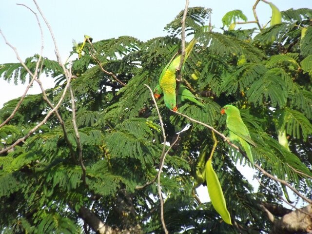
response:
<path fill-rule="evenodd" d="M 158 84 L 155 89 L 154 89 L 154 97 L 156 99 L 160 98 L 160 95 L 162 95 L 163 92 L 160 88 L 160 85 Z M 178 104 L 180 104 L 181 102 L 184 101 L 192 101 L 195 104 L 201 106 L 201 107 L 205 107 L 201 102 L 197 101 L 196 99 L 201 100 L 201 98 L 197 98 L 194 94 L 191 93 L 190 90 L 188 90 L 184 85 L 180 85 L 179 89 L 178 89 L 178 93 L 177 93 L 177 97 L 176 97 L 176 101 Z"/>

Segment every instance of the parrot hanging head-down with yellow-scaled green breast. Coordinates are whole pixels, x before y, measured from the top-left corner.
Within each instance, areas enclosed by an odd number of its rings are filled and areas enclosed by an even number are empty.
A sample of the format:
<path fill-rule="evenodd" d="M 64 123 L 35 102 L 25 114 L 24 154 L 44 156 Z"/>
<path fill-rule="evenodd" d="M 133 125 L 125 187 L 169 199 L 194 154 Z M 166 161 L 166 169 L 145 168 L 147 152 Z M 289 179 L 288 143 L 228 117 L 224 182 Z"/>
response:
<path fill-rule="evenodd" d="M 185 57 L 183 61 L 183 66 L 181 71 L 183 71 L 184 63 L 186 59 L 189 57 L 196 39 L 192 39 L 188 46 L 185 48 Z M 166 106 L 173 110 L 177 111 L 176 107 L 176 69 L 178 68 L 181 60 L 181 55 L 177 54 L 170 60 L 170 62 L 166 65 L 166 67 L 162 70 L 159 77 L 159 87 L 163 91 L 164 100 Z"/>

